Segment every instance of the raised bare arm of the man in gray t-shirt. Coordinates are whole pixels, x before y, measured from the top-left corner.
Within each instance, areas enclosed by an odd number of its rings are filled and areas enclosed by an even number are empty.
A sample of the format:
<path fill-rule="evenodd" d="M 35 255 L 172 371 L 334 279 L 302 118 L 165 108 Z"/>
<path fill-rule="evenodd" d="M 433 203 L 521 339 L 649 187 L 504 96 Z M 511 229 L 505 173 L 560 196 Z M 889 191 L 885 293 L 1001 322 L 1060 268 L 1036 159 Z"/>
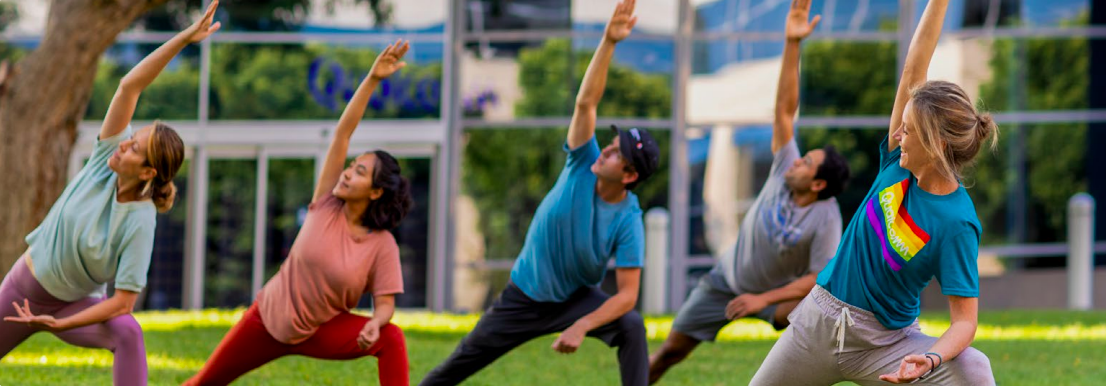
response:
<path fill-rule="evenodd" d="M 772 124 L 772 153 L 791 142 L 795 134 L 795 113 L 799 111 L 799 43 L 814 32 L 822 15 L 807 21 L 811 0 L 792 0 L 785 27 L 787 42 L 783 45 L 783 65 L 780 85 L 775 90 L 775 119 Z"/>

